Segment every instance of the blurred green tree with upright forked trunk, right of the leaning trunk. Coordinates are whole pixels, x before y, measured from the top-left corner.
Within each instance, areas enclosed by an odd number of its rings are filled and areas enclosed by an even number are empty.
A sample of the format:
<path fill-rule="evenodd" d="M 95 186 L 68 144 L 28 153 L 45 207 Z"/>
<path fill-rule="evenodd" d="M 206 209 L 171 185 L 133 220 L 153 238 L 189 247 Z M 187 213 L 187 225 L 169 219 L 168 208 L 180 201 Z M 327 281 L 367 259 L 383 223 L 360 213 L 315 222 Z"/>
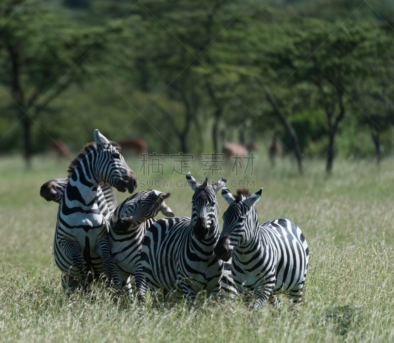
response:
<path fill-rule="evenodd" d="M 296 49 L 289 63 L 295 80 L 316 87 L 315 106 L 323 108 L 326 115 L 328 173 L 333 166 L 335 135 L 353 102 L 355 79 L 374 76 L 372 65 L 379 63 L 379 34 L 377 26 L 368 23 L 307 20 L 292 35 Z"/>

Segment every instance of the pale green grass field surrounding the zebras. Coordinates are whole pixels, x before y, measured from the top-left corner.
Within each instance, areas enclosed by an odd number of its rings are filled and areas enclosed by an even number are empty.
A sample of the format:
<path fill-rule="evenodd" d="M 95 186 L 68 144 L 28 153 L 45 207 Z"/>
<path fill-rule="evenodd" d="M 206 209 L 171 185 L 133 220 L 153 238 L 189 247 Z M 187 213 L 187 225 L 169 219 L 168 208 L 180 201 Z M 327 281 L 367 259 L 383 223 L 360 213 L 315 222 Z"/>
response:
<path fill-rule="evenodd" d="M 127 162 L 141 186 L 158 179 L 141 175 L 137 159 Z M 142 308 L 115 301 L 102 286 L 67 298 L 52 256 L 57 204 L 39 196 L 42 183 L 66 175 L 67 164 L 37 157 L 26 171 L 22 159 L 0 158 L 2 342 L 393 342 L 394 159 L 380 166 L 338 160 L 330 177 L 323 161 L 307 161 L 302 176 L 287 160 L 273 169 L 263 157 L 255 161 L 247 180 L 251 191 L 264 187 L 260 221 L 291 219 L 309 245 L 296 318 L 285 296 L 280 312 L 266 306 L 260 313 L 241 297 L 194 308 L 185 302 Z M 185 177 L 170 171 L 166 160 L 157 183 L 164 187 L 157 188 L 171 191 L 166 202 L 176 215 L 190 216 L 193 192 L 176 187 Z M 202 178 L 201 166 L 191 171 Z M 231 191 L 245 177 L 230 170 L 225 176 Z M 169 181 L 172 189 L 165 188 Z M 118 200 L 126 197 L 117 192 Z M 220 216 L 225 209 L 219 195 Z"/>

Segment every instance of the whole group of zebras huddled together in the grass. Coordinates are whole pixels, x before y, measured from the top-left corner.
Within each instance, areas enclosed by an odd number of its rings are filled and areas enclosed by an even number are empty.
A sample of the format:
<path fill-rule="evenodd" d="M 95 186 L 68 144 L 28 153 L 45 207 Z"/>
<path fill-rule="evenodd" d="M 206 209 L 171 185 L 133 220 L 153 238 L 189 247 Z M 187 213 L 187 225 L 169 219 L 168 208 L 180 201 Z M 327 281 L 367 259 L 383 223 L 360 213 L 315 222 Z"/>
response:
<path fill-rule="evenodd" d="M 252 307 L 261 309 L 278 293 L 300 303 L 308 266 L 308 246 L 301 230 L 287 219 L 259 224 L 254 204 L 262 190 L 235 197 L 226 179 L 208 184 L 186 175 L 194 191 L 191 217 L 175 216 L 164 200 L 169 193 L 134 193 L 116 207 L 113 192 L 133 193 L 135 173 L 120 154 L 120 146 L 99 130 L 71 162 L 66 178 L 41 186 L 40 195 L 59 203 L 53 254 L 62 272 L 65 292 L 103 279 L 118 293 L 126 290 L 144 302 L 148 288 L 175 292 L 190 300 L 204 290 L 209 297 L 222 291 L 254 291 Z M 216 194 L 229 207 L 219 229 Z M 156 220 L 161 211 L 165 218 Z"/>

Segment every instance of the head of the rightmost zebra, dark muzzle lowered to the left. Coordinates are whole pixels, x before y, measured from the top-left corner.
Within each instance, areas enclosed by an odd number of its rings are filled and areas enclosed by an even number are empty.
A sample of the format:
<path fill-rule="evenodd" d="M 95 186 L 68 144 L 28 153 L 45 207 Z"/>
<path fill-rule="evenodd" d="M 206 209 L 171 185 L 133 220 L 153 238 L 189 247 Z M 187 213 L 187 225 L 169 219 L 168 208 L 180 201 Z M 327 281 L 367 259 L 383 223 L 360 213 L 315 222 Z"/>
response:
<path fill-rule="evenodd" d="M 229 203 L 223 214 L 223 229 L 215 247 L 217 257 L 228 261 L 233 249 L 241 249 L 258 232 L 259 221 L 254 204 L 260 199 L 263 187 L 250 195 L 239 189 L 235 197 L 225 188 L 222 196 Z"/>

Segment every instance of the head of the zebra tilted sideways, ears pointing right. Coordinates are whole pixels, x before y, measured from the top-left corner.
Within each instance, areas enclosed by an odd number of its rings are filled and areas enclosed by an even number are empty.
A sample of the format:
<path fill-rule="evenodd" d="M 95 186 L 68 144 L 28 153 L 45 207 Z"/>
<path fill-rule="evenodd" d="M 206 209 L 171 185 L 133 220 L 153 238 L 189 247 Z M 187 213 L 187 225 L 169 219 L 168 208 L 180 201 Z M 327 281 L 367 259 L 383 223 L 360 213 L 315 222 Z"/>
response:
<path fill-rule="evenodd" d="M 111 227 L 115 232 L 125 232 L 131 226 L 142 224 L 149 218 L 157 216 L 161 211 L 166 217 L 174 217 L 172 210 L 164 202 L 170 193 L 155 189 L 135 193 L 124 200 L 115 210 L 111 218 Z"/>

